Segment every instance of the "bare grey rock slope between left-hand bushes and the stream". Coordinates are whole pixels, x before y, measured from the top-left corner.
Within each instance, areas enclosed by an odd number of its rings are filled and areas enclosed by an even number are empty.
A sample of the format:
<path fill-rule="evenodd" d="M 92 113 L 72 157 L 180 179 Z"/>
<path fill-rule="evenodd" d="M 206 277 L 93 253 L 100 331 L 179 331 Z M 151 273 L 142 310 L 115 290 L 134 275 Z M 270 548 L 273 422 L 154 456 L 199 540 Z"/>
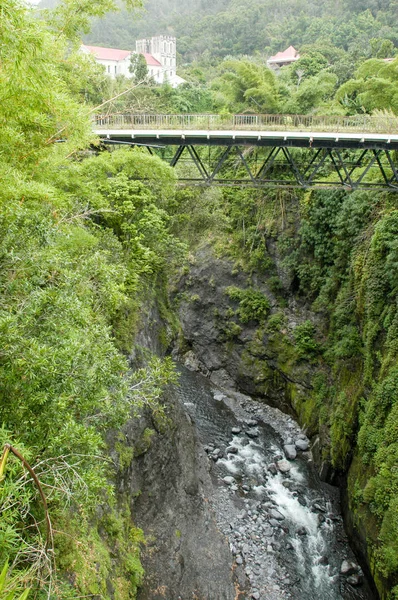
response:
<path fill-rule="evenodd" d="M 233 600 L 232 557 L 208 504 L 206 455 L 172 392 L 166 403 L 171 429 L 155 433 L 150 417 L 142 417 L 125 432 L 135 458 L 119 491 L 130 498 L 135 524 L 147 539 L 147 575 L 138 598 Z"/>

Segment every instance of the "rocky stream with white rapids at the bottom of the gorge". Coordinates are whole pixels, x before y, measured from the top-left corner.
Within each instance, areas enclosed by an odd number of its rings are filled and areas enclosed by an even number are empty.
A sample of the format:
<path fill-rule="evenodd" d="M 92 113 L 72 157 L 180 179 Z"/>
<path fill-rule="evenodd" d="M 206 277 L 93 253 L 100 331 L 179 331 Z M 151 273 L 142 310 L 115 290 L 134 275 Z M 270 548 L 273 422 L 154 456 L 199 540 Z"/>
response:
<path fill-rule="evenodd" d="M 319 480 L 297 423 L 184 367 L 180 375 L 176 394 L 208 461 L 236 598 L 374 599 L 344 532 L 339 490 Z"/>

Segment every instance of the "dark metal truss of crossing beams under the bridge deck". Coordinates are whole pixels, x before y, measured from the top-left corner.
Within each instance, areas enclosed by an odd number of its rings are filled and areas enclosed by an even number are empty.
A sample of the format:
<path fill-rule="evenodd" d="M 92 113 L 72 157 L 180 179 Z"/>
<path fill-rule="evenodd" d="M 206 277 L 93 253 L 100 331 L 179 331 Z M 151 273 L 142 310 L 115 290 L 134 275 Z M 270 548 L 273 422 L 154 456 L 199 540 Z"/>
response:
<path fill-rule="evenodd" d="M 145 146 L 178 169 L 179 181 L 251 187 L 387 187 L 398 192 L 398 151 L 384 147 L 223 146 L 103 140 Z M 162 142 L 160 142 L 161 144 Z M 231 176 L 231 174 L 233 174 Z"/>

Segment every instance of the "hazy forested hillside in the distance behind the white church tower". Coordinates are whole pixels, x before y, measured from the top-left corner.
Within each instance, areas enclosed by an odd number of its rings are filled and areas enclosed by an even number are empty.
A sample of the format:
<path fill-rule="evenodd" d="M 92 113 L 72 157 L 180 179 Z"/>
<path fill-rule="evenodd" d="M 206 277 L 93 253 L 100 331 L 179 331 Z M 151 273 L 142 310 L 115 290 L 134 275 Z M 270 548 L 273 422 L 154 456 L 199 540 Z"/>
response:
<path fill-rule="evenodd" d="M 398 47 L 397 14 L 398 0 L 147 0 L 135 14 L 122 9 L 94 20 L 84 41 L 130 49 L 136 39 L 168 33 L 177 37 L 183 62 L 316 43 L 366 56 L 375 38 Z"/>

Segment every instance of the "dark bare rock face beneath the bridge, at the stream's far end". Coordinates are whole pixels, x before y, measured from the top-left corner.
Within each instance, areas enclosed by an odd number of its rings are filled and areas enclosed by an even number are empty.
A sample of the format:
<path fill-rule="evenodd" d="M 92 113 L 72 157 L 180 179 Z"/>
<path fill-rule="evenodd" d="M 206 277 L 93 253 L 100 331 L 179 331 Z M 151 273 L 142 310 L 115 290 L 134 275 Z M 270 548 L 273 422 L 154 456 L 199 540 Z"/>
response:
<path fill-rule="evenodd" d="M 292 414 L 291 385 L 295 393 L 305 395 L 310 388 L 309 373 L 290 364 L 288 356 L 282 357 L 278 340 L 258 322 L 236 319 L 236 302 L 227 293 L 231 287 L 253 287 L 270 300 L 271 311 L 278 310 L 265 276 L 249 278 L 247 273 L 235 271 L 232 261 L 216 259 L 211 247 L 205 246 L 178 284 L 175 301 L 182 336 L 176 354 L 216 385 L 262 397 L 267 404 Z M 308 318 L 307 314 L 292 298 L 284 308 L 285 333 Z"/>

